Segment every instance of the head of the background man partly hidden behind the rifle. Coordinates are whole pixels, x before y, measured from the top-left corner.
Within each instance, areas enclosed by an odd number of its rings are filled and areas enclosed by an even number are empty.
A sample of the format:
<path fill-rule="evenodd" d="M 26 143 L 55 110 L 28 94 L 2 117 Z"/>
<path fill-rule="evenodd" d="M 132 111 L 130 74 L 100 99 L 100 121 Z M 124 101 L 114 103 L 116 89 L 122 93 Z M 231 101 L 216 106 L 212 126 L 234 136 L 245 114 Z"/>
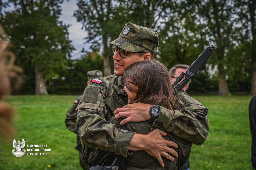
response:
<path fill-rule="evenodd" d="M 177 77 L 182 73 L 182 71 L 186 73 L 188 68 L 189 68 L 189 65 L 186 65 L 186 64 L 177 64 L 173 66 L 169 71 L 170 76 L 172 77 L 172 84 L 176 81 Z M 185 76 L 183 77 L 183 79 L 184 78 Z M 186 86 L 183 89 L 187 91 L 188 87 L 189 87 L 189 82 L 186 84 Z"/>

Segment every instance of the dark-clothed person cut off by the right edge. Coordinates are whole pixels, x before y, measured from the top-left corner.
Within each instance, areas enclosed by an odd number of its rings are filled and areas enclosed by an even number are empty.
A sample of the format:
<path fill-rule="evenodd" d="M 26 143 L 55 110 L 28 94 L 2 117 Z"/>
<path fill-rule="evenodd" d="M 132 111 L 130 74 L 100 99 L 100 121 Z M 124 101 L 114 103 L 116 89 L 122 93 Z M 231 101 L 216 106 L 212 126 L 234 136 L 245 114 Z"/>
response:
<path fill-rule="evenodd" d="M 256 95 L 254 95 L 249 104 L 250 127 L 252 133 L 252 167 L 256 169 Z"/>

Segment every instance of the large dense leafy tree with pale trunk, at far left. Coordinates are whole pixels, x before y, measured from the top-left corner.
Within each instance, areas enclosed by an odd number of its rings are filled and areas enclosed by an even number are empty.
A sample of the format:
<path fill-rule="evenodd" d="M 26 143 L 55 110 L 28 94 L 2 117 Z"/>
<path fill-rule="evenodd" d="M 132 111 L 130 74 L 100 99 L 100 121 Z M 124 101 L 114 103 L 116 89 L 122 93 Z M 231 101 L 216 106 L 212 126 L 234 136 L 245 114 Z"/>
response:
<path fill-rule="evenodd" d="M 62 0 L 13 1 L 15 10 L 1 17 L 21 66 L 34 67 L 36 94 L 48 94 L 46 80 L 66 67 L 73 47 L 68 26 L 58 21 Z M 26 74 L 26 72 L 25 72 Z"/>

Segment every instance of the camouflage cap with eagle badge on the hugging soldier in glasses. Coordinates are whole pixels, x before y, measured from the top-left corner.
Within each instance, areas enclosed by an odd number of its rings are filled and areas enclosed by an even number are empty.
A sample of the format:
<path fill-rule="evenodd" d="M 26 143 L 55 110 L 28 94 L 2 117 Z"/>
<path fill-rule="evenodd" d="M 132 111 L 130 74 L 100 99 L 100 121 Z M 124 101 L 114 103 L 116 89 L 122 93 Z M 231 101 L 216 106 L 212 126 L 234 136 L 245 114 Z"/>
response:
<path fill-rule="evenodd" d="M 159 44 L 159 38 L 158 33 L 153 29 L 128 22 L 118 39 L 110 44 L 129 52 L 139 52 L 147 49 L 155 53 Z"/>

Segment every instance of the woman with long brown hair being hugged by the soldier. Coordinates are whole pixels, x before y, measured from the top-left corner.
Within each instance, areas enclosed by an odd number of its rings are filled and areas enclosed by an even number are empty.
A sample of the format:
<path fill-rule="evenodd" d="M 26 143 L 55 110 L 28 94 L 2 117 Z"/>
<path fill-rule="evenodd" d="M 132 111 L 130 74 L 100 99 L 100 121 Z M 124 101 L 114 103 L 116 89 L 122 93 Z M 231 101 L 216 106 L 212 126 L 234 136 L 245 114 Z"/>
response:
<path fill-rule="evenodd" d="M 124 73 L 124 90 L 128 95 L 128 104 L 141 102 L 172 110 L 178 109 L 177 104 L 180 99 L 173 95 L 168 69 L 157 60 L 144 60 L 128 67 Z M 115 120 L 114 116 L 110 122 L 116 124 L 119 128 L 121 127 L 121 120 Z M 140 134 L 148 134 L 154 129 L 155 127 L 149 121 L 126 124 L 126 130 Z M 178 152 L 178 157 L 174 161 L 170 161 L 163 156 L 165 166 L 162 167 L 155 157 L 144 150 L 140 150 L 128 155 L 125 161 L 126 169 L 180 169 L 189 158 L 192 143 L 176 137 L 173 132 L 167 133 L 168 135 L 164 138 L 178 144 L 178 148 L 173 148 Z M 122 167 L 122 159 L 118 159 L 117 164 Z"/>

